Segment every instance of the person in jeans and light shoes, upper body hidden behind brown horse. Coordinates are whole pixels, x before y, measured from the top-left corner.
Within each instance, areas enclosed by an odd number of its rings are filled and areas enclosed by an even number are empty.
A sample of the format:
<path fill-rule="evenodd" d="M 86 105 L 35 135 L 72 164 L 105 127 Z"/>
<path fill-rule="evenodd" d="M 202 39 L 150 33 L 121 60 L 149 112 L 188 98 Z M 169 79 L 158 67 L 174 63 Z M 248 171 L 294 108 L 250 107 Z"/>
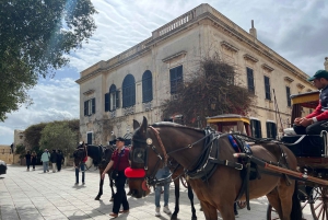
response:
<path fill-rule="evenodd" d="M 163 211 L 167 215 L 172 213 L 169 208 L 168 208 L 169 183 L 171 183 L 171 177 L 168 177 L 169 175 L 171 175 L 171 172 L 169 172 L 168 166 L 164 166 L 163 169 L 160 169 L 156 173 L 156 180 L 165 178 L 165 181 L 164 181 L 164 207 L 163 207 Z M 162 186 L 156 185 L 156 187 L 155 187 L 155 206 L 156 206 L 155 217 L 161 216 L 161 205 L 160 205 L 161 193 L 162 193 Z"/>

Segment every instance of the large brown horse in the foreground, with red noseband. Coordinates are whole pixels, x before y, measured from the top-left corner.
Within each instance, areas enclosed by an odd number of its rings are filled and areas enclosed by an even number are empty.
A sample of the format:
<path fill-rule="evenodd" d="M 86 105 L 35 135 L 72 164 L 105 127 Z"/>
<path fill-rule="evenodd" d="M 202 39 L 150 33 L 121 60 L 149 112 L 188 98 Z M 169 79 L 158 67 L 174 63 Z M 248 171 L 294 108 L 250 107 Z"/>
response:
<path fill-rule="evenodd" d="M 138 123 L 134 121 L 133 127 Z M 234 158 L 234 149 L 227 136 L 214 136 L 210 144 L 206 144 L 208 137 L 203 130 L 189 128 L 172 123 L 160 123 L 148 126 L 147 118 L 142 125 L 134 129 L 131 151 L 131 169 L 145 169 L 145 180 L 151 183 L 157 169 L 165 163 L 167 155 L 177 161 L 190 176 L 189 183 L 195 190 L 206 219 L 216 220 L 218 211 L 224 220 L 234 220 L 233 205 L 237 199 L 243 180 L 241 171 L 225 164 L 237 164 Z M 211 136 L 209 136 L 211 137 Z M 206 173 L 203 180 L 201 161 L 212 163 L 213 154 L 207 154 L 207 149 L 214 149 L 216 139 L 216 159 L 221 161 L 212 169 L 212 173 Z M 297 161 L 294 154 L 284 146 L 274 142 L 266 142 L 251 147 L 253 155 L 265 161 L 280 162 L 291 170 L 296 170 Z M 285 155 L 285 157 L 282 157 Z M 141 159 L 141 160 L 140 160 Z M 210 160 L 211 159 L 211 160 Z M 140 161 L 143 161 L 140 163 Z M 199 167 L 199 164 L 202 165 Z M 260 169 L 261 172 L 261 169 Z M 207 177 L 209 175 L 209 177 Z M 142 181 L 130 184 L 132 196 L 139 198 L 142 194 Z M 294 180 L 286 180 L 282 175 L 269 175 L 261 173 L 260 178 L 249 182 L 249 198 L 258 198 L 267 195 L 270 205 L 274 207 L 281 220 L 301 220 L 302 210 L 297 198 Z M 246 200 L 243 195 L 241 200 Z M 292 218 L 293 217 L 293 218 Z"/>

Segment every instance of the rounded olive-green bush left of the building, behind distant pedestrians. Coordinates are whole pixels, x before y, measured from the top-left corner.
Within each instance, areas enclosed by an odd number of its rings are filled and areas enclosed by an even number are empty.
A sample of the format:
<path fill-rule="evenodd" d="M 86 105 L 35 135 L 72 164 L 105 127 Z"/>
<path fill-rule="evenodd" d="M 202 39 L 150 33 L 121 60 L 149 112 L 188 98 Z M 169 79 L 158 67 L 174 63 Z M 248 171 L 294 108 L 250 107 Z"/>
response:
<path fill-rule="evenodd" d="M 67 121 L 54 121 L 47 124 L 42 130 L 39 149 L 48 149 L 49 151 L 59 149 L 65 154 L 72 153 L 77 141 L 77 134 L 69 127 Z"/>

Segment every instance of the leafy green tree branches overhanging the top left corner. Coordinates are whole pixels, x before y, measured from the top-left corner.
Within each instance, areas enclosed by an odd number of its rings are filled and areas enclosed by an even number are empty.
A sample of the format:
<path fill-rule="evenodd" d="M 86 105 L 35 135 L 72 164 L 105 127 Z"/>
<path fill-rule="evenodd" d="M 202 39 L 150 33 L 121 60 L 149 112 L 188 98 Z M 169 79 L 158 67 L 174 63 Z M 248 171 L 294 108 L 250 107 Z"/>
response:
<path fill-rule="evenodd" d="M 95 31 L 91 0 L 0 2 L 0 120 L 32 104 L 27 91 L 69 62 Z"/>

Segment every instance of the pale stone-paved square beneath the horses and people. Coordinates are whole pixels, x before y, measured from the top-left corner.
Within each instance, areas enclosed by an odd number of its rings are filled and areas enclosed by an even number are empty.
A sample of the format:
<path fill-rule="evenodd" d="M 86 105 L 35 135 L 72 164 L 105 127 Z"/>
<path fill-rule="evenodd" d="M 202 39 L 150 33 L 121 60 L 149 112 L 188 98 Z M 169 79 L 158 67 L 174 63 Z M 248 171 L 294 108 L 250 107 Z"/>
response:
<path fill-rule="evenodd" d="M 42 166 L 36 171 L 26 171 L 24 166 L 9 165 L 7 174 L 0 176 L 0 219 L 1 220 L 61 220 L 61 219 L 110 219 L 113 202 L 108 178 L 105 180 L 102 200 L 94 200 L 98 192 L 98 171 L 87 171 L 85 185 L 74 185 L 73 167 L 66 167 L 61 172 L 44 173 Z M 80 174 L 81 175 L 81 174 Z M 81 176 L 80 176 L 81 177 Z M 171 185 L 169 208 L 174 208 L 174 185 Z M 128 197 L 130 212 L 119 215 L 117 220 L 152 220 L 169 219 L 162 212 L 162 217 L 154 217 L 154 193 L 142 199 Z M 163 204 L 163 198 L 161 200 Z M 198 220 L 204 220 L 199 211 L 196 198 Z M 239 209 L 238 219 L 265 220 L 267 199 L 261 197 L 250 201 L 251 210 Z M 312 219 L 309 209 L 304 211 L 306 219 Z M 180 220 L 191 219 L 190 204 L 185 188 L 180 189 Z M 219 217 L 218 219 L 222 219 Z"/>

